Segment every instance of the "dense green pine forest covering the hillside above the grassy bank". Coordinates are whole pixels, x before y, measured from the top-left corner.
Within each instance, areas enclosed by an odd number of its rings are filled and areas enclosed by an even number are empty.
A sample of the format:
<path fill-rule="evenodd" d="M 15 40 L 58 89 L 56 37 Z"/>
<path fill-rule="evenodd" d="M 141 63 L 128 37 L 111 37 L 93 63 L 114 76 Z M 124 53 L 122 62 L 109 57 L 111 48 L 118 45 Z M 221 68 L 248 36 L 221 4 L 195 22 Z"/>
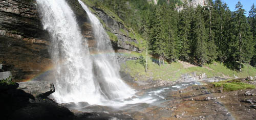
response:
<path fill-rule="evenodd" d="M 256 66 L 254 4 L 250 11 L 241 2 L 236 11 L 230 11 L 221 0 L 196 8 L 177 0 L 160 0 L 157 5 L 146 0 L 96 0 L 95 4 L 108 7 L 140 33 L 146 41 L 144 48 L 159 64 L 181 60 L 202 66 L 219 61 L 240 71 L 244 63 Z"/>

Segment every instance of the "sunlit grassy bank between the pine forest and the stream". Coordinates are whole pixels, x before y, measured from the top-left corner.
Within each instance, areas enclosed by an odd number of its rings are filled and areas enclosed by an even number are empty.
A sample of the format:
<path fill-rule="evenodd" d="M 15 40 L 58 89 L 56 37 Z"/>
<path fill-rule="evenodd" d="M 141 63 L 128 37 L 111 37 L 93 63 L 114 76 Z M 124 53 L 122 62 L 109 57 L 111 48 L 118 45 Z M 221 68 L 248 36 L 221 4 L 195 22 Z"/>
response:
<path fill-rule="evenodd" d="M 146 59 L 145 53 L 119 53 L 126 61 L 120 61 L 121 71 L 130 74 L 135 80 L 163 80 L 163 81 L 180 81 L 184 75 L 200 77 L 221 77 L 226 79 L 246 78 L 251 76 L 256 78 L 256 68 L 248 64 L 244 64 L 242 72 L 227 68 L 223 63 L 213 62 L 203 66 L 196 66 L 188 62 L 177 61 L 172 63 L 165 62 L 164 65 L 159 66 L 158 60 L 153 56 L 147 57 L 147 73 L 145 72 L 145 62 L 141 63 L 140 57 Z M 137 58 L 137 59 L 136 59 Z"/>

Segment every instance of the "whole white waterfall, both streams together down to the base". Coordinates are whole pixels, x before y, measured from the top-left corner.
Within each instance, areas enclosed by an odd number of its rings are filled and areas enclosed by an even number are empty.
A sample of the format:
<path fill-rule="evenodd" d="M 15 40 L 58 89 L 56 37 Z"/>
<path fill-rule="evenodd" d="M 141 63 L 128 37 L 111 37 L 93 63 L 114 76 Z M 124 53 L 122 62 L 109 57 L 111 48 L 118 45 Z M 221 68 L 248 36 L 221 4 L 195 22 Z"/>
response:
<path fill-rule="evenodd" d="M 36 2 L 42 25 L 51 35 L 49 52 L 55 65 L 56 89 L 52 97 L 56 102 L 104 105 L 134 94 L 120 79 L 108 35 L 81 1 L 92 22 L 96 55 L 90 55 L 87 40 L 82 37 L 75 15 L 65 0 Z"/>

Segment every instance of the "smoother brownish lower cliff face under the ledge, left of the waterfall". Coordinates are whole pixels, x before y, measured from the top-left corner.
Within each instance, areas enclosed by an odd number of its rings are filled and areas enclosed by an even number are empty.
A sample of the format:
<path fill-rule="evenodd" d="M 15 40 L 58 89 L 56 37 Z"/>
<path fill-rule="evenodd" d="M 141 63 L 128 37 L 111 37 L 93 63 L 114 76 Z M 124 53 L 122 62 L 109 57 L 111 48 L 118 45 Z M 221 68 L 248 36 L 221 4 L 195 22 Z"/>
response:
<path fill-rule="evenodd" d="M 11 71 L 13 80 L 28 80 L 51 66 L 47 45 L 0 36 L 0 63 Z"/>

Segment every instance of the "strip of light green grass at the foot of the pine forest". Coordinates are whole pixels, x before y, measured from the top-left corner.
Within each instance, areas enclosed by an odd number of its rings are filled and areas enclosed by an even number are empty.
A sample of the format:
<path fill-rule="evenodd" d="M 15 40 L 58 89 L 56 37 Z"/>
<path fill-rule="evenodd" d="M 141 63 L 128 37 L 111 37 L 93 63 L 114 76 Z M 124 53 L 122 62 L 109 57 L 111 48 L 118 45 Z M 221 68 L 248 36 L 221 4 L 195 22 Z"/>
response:
<path fill-rule="evenodd" d="M 132 53 L 129 57 L 132 56 L 139 57 L 140 54 Z M 145 58 L 145 54 L 143 54 L 143 57 Z M 139 60 L 126 61 L 125 64 L 121 65 L 121 70 L 125 71 L 125 73 L 131 74 L 135 80 L 147 80 L 148 78 L 152 78 L 154 80 L 176 81 L 181 77 L 182 74 L 193 72 L 196 72 L 197 75 L 205 73 L 207 77 L 219 76 L 233 78 L 234 75 L 236 75 L 239 78 L 245 78 L 247 76 L 256 76 L 256 68 L 249 65 L 244 65 L 245 67 L 242 69 L 242 73 L 240 73 L 238 71 L 228 69 L 219 62 L 207 64 L 203 67 L 190 66 L 187 68 L 184 67 L 182 62 L 173 62 L 171 64 L 165 63 L 165 65 L 161 67 L 155 62 L 157 62 L 157 60 L 153 59 L 152 57 L 148 57 L 147 73 L 145 73 L 144 66 L 139 63 Z"/>

